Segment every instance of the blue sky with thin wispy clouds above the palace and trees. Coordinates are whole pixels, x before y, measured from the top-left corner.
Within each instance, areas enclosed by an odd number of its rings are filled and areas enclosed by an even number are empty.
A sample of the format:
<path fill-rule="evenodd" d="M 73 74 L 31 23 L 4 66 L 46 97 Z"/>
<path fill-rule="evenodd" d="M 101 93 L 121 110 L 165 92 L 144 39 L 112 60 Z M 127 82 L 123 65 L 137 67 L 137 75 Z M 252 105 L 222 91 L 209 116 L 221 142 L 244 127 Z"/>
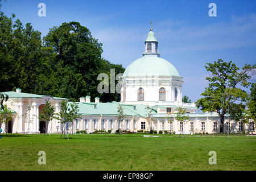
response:
<path fill-rule="evenodd" d="M 46 17 L 38 4 L 46 4 Z M 210 17 L 209 3 L 217 17 Z M 200 98 L 207 82 L 205 63 L 232 60 L 238 67 L 256 63 L 256 1 L 2 1 L 5 14 L 14 13 L 45 36 L 49 28 L 77 21 L 103 43 L 102 57 L 127 67 L 142 56 L 144 40 L 153 31 L 161 57 L 184 77 L 183 96 Z"/>

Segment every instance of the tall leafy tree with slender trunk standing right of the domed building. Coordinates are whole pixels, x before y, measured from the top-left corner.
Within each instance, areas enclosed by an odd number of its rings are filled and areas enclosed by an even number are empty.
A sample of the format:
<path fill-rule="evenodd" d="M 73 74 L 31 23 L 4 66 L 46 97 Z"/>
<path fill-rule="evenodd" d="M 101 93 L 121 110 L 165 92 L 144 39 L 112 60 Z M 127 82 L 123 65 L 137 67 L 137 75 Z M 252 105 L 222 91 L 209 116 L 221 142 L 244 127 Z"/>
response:
<path fill-rule="evenodd" d="M 197 100 L 196 106 L 201 107 L 203 111 L 217 112 L 220 115 L 220 133 L 223 133 L 224 117 L 230 105 L 234 106 L 239 100 L 246 101 L 246 91 L 241 88 L 250 85 L 249 79 L 254 74 L 256 65 L 246 64 L 241 71 L 232 61 L 227 63 L 221 59 L 207 65 L 205 68 L 210 72 L 210 77 L 206 80 L 209 86 L 201 94 L 203 98 Z"/>

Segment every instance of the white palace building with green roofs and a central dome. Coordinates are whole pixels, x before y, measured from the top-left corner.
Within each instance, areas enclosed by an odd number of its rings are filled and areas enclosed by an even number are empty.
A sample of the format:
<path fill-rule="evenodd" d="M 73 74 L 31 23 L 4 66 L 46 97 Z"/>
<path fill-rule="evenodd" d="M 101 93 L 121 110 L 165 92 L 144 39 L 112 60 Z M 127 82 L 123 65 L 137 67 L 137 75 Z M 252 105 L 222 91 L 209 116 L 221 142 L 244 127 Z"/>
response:
<path fill-rule="evenodd" d="M 8 133 L 61 133 L 64 127 L 67 131 L 76 132 L 86 130 L 93 133 L 96 130 L 118 129 L 137 132 L 139 130 L 168 131 L 175 134 L 193 133 L 219 133 L 220 117 L 217 113 L 196 113 L 194 103 L 182 102 L 183 77 L 169 61 L 162 59 L 158 52 L 158 40 L 152 31 L 144 41 L 143 56 L 133 61 L 123 73 L 119 83 L 121 85 L 121 101 L 102 103 L 98 97 L 91 102 L 90 96 L 81 97 L 78 102 L 81 119 L 62 125 L 56 119 L 48 123 L 39 121 L 46 101 L 55 106 L 55 111 L 60 111 L 60 102 L 65 98 L 42 96 L 38 94 L 16 92 L 2 92 L 7 94 L 9 100 L 7 107 L 13 110 L 13 121 L 0 124 L 3 131 Z M 125 118 L 118 121 L 118 105 L 124 108 Z M 148 118 L 146 107 L 152 108 L 151 117 Z M 179 122 L 175 119 L 176 109 L 184 107 L 189 119 Z M 247 130 L 241 122 L 231 121 L 228 116 L 224 121 L 224 131 L 239 132 Z M 247 126 L 246 126 L 247 127 Z M 254 131 L 254 122 L 249 125 Z"/>

